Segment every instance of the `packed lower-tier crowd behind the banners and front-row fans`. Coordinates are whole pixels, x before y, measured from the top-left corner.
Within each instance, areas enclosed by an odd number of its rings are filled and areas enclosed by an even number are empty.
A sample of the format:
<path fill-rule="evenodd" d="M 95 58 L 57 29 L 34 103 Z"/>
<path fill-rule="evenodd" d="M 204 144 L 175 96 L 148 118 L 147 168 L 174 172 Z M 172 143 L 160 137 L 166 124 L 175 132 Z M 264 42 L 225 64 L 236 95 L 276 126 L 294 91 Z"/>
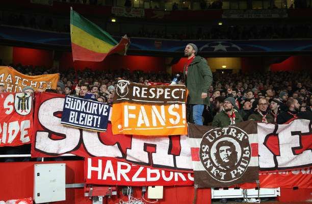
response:
<path fill-rule="evenodd" d="M 34 69 L 21 65 L 15 67 L 18 71 L 28 75 L 58 72 L 57 69 Z M 180 75 L 183 76 L 181 73 Z M 62 71 L 57 89 L 48 91 L 93 98 L 111 105 L 119 79 L 150 85 L 154 83 L 168 84 L 172 78 L 172 75 L 165 72 L 147 73 L 140 70 L 130 72 L 127 69 L 114 71 L 91 69 L 75 71 L 68 69 Z M 180 83 L 184 83 L 183 78 L 181 78 Z M 263 107 L 260 107 L 263 112 L 273 116 L 274 120 L 270 120 L 271 122 L 283 123 L 285 121 L 277 121 L 277 115 L 289 110 L 287 101 L 290 98 L 298 100 L 300 106 L 297 107 L 298 110 L 296 108 L 298 112 L 305 112 L 307 116 L 311 116 L 311 93 L 312 83 L 308 72 L 216 72 L 213 76 L 213 85 L 209 89 L 211 106 L 206 107 L 203 118 L 205 124 L 211 123 L 214 116 L 224 110 L 224 99 L 233 97 L 235 107 L 243 120 L 248 120 L 251 114 L 258 113 L 260 101 L 264 104 Z M 265 103 L 261 99 L 265 99 L 263 100 Z"/>

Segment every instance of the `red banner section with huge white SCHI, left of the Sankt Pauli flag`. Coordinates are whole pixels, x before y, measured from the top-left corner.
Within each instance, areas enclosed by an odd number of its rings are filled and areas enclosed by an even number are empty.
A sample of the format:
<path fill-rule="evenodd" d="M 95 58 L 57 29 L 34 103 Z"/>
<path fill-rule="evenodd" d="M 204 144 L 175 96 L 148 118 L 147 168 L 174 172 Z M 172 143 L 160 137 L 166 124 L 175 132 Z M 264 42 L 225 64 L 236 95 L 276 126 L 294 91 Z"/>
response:
<path fill-rule="evenodd" d="M 81 130 L 61 124 L 65 96 L 36 93 L 32 157 L 70 153 L 81 157 L 111 157 L 119 161 L 172 171 L 192 172 L 187 136 L 113 135 Z"/>

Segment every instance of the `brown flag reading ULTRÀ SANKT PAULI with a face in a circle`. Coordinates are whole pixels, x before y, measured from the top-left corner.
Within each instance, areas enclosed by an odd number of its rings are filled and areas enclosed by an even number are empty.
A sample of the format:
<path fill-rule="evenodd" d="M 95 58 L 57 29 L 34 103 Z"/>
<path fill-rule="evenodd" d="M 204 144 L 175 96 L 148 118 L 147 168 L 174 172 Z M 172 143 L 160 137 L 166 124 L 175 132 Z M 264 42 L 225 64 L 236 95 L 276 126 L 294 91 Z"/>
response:
<path fill-rule="evenodd" d="M 189 123 L 194 182 L 199 188 L 228 187 L 258 180 L 257 123 L 227 127 Z"/>

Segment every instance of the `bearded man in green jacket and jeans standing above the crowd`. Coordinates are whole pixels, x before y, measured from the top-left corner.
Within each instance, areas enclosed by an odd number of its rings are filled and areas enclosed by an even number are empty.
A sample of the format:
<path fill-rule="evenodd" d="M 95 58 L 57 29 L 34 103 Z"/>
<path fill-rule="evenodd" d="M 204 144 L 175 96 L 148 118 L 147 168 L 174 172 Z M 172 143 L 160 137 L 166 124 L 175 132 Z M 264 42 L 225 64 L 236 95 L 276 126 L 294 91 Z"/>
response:
<path fill-rule="evenodd" d="M 207 61 L 200 56 L 196 56 L 197 52 L 198 48 L 195 44 L 187 44 L 185 56 L 188 57 L 188 61 L 184 66 L 184 79 L 189 90 L 187 103 L 191 106 L 191 119 L 195 124 L 202 125 L 201 115 L 204 105 L 210 105 L 207 92 L 212 84 L 213 75 Z"/>

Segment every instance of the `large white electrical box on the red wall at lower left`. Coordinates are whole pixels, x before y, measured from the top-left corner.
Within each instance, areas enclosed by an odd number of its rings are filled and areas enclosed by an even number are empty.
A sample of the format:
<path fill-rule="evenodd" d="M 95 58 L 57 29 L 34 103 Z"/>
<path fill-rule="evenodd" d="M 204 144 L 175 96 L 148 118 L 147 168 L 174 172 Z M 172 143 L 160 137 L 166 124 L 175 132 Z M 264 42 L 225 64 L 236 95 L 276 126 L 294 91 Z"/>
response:
<path fill-rule="evenodd" d="M 36 203 L 66 200 L 66 164 L 35 164 L 34 200 Z"/>

